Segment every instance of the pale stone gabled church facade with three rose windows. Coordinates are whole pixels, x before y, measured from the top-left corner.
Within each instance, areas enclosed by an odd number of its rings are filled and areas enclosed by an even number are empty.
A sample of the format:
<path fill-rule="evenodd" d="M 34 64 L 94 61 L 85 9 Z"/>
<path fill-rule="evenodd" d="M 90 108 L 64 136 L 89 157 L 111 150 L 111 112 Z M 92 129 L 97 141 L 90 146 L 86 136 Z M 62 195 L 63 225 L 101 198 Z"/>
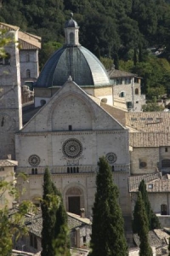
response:
<path fill-rule="evenodd" d="M 40 109 L 16 134 L 15 143 L 17 172 L 30 175 L 29 183 L 20 184 L 26 188 L 25 198 L 42 196 L 42 174 L 48 166 L 66 210 L 72 211 L 71 204 L 77 200 L 88 217 L 94 203 L 97 162 L 100 156 L 111 154 L 115 158 L 111 162 L 114 179 L 121 188 L 122 211 L 129 214 L 127 129 L 74 82 L 68 81 Z"/>

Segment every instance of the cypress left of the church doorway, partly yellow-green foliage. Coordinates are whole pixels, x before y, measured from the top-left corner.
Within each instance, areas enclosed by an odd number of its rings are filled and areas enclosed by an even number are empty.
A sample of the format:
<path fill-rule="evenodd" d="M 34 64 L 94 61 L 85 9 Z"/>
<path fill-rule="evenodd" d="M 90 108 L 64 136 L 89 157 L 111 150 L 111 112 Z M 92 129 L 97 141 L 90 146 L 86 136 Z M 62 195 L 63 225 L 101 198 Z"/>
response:
<path fill-rule="evenodd" d="M 42 196 L 42 256 L 70 256 L 67 217 L 59 191 L 46 168 Z"/>

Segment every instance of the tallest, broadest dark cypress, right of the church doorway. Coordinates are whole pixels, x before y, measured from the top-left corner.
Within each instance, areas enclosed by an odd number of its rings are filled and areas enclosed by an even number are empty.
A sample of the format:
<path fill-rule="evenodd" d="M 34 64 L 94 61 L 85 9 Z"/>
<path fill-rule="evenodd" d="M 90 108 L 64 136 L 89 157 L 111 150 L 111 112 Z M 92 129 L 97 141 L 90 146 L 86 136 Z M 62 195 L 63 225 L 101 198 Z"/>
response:
<path fill-rule="evenodd" d="M 111 167 L 105 157 L 99 158 L 97 191 L 93 207 L 90 256 L 126 256 L 123 218 L 118 205 L 118 189 L 113 183 Z"/>

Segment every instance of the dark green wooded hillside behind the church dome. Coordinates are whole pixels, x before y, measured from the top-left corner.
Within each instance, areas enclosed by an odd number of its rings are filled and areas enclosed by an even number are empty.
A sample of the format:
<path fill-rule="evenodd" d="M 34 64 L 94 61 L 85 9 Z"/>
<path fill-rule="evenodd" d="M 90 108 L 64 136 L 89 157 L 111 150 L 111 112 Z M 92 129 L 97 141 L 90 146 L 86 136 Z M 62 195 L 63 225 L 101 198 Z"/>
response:
<path fill-rule="evenodd" d="M 65 42 L 65 20 L 71 12 L 80 26 L 80 43 L 107 65 L 138 73 L 142 90 L 170 90 L 170 1 L 166 0 L 3 0 L 0 21 L 42 37 L 41 67 Z M 151 55 L 149 48 L 164 49 Z M 118 60 L 122 60 L 118 64 Z M 108 63 L 111 63 L 109 61 Z M 110 66 L 111 64 L 109 64 Z"/>

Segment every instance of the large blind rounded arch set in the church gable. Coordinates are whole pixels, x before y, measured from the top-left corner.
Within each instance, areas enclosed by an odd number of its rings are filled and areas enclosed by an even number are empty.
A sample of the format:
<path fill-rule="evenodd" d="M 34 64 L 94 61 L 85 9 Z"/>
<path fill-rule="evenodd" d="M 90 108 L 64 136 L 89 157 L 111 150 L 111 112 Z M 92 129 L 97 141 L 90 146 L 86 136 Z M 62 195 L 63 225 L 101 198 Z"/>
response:
<path fill-rule="evenodd" d="M 68 108 L 66 108 L 67 104 Z M 59 108 L 62 111 L 58 111 Z M 56 109 L 57 111 L 55 111 Z M 63 111 L 68 114 L 68 119 L 65 119 Z M 72 125 L 75 116 L 77 116 L 78 121 Z M 84 122 L 82 118 L 86 119 L 86 121 Z M 52 131 L 69 131 L 69 125 L 72 125 L 72 130 L 75 131 L 82 130 L 82 127 L 85 130 L 92 130 L 94 119 L 94 108 L 83 96 L 75 92 L 66 92 L 59 96 L 52 108 L 49 109 L 48 129 Z"/>

